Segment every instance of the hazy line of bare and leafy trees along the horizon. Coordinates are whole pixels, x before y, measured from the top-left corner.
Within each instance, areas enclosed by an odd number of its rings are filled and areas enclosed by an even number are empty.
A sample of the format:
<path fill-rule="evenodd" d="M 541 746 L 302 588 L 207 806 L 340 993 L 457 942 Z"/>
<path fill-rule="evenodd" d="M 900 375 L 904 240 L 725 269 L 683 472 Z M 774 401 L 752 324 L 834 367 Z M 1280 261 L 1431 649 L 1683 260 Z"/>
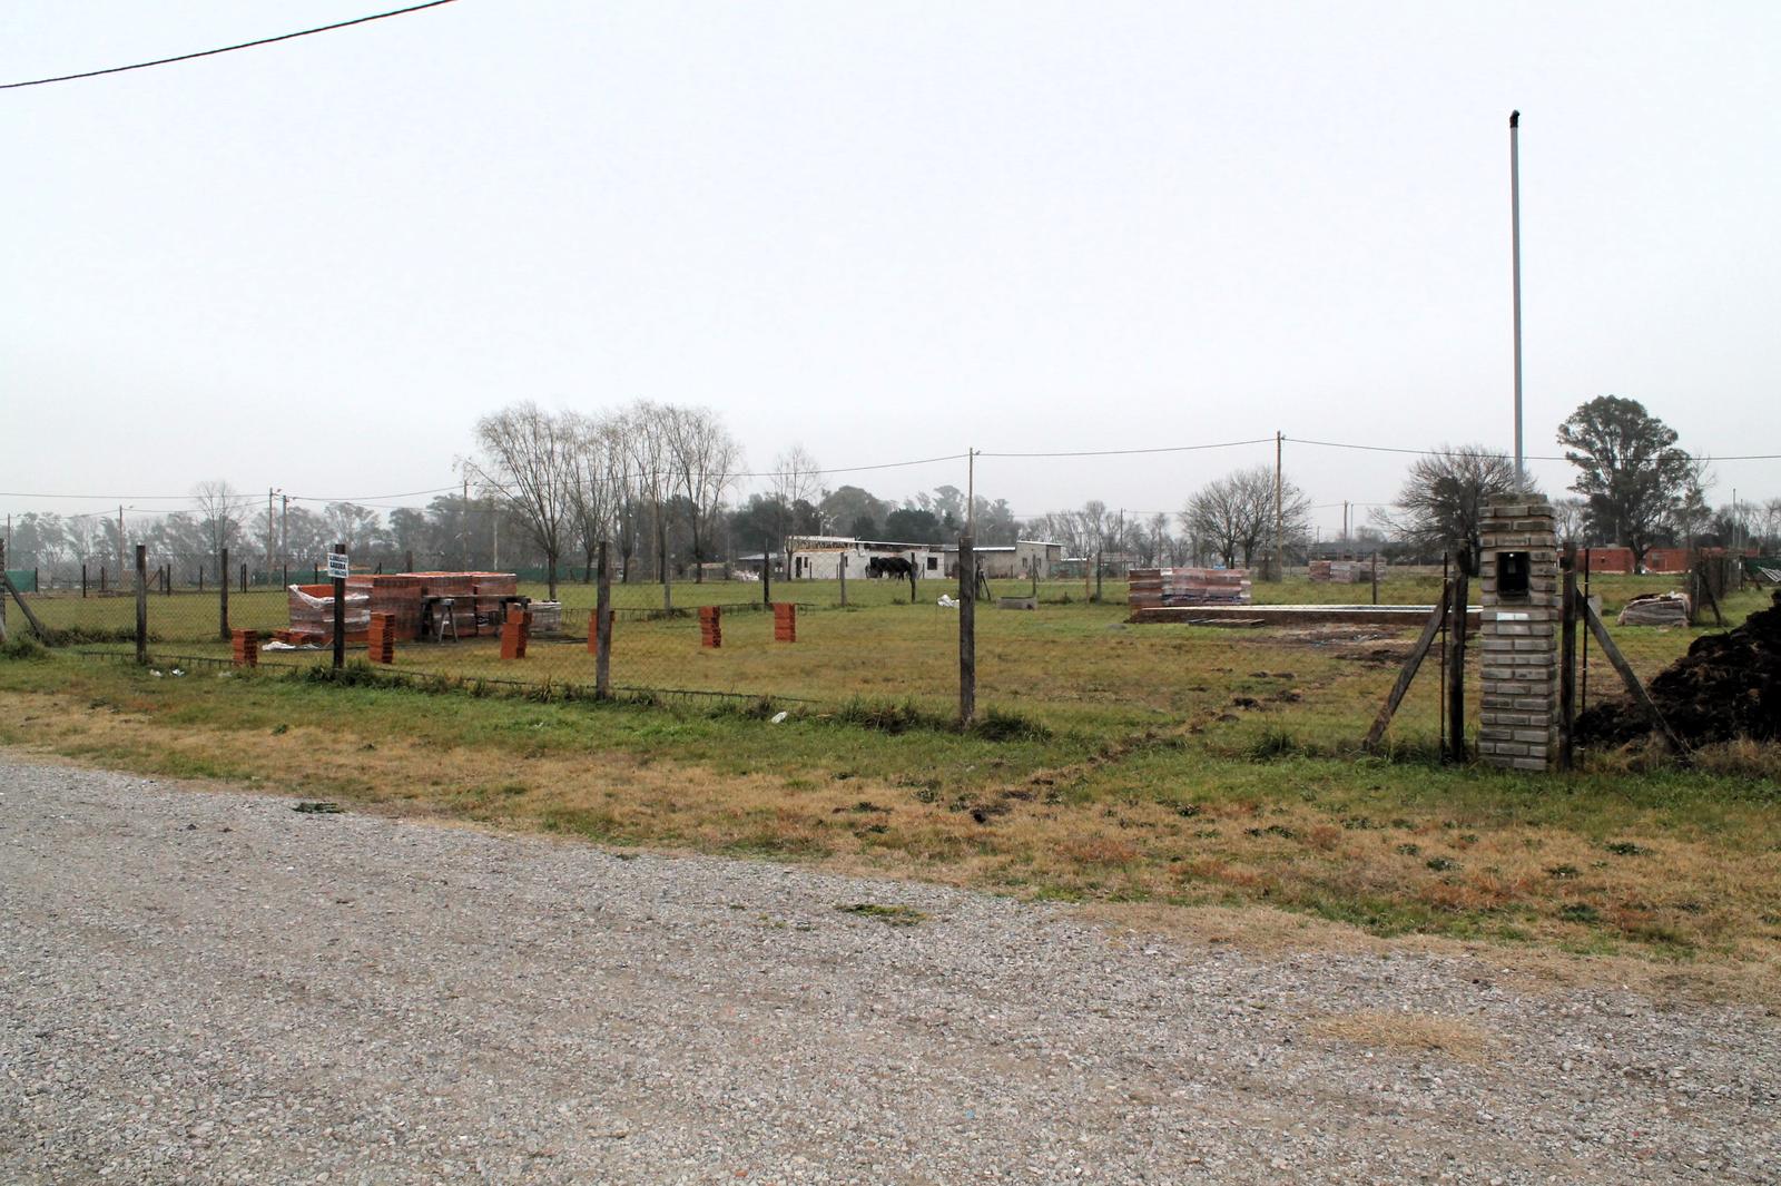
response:
<path fill-rule="evenodd" d="M 980 545 L 1060 543 L 1065 556 L 1120 566 L 1259 566 L 1311 548 L 1311 499 L 1272 467 L 1240 468 L 1190 493 L 1179 511 L 1127 515 L 1101 500 L 1017 518 L 1003 499 L 942 484 L 903 500 L 842 484 L 801 445 L 771 470 L 746 474 L 743 449 L 709 408 L 639 401 L 600 415 L 543 411 L 522 402 L 477 422 L 476 451 L 459 461 L 461 490 L 424 508 L 278 502 L 271 511 L 226 483 L 201 483 L 191 511 L 137 518 L 119 534 L 110 513 L 20 516 L 7 563 L 77 577 L 82 565 L 128 565 L 146 543 L 157 563 L 196 579 L 230 548 L 262 573 L 297 572 L 344 543 L 360 566 L 533 570 L 550 586 L 591 579 L 600 541 L 618 581 L 703 581 L 707 570 L 762 554 L 793 536 L 853 536 L 951 543 L 974 511 Z M 1576 468 L 1573 497 L 1555 499 L 1562 540 L 1624 545 L 1635 561 L 1660 545 L 1756 545 L 1781 550 L 1781 499 L 1713 508 L 1710 463 L 1676 445 L 1676 433 L 1642 404 L 1603 395 L 1558 426 Z M 759 488 L 743 495 L 744 481 Z M 1509 458 L 1482 445 L 1441 445 L 1418 456 L 1396 500 L 1346 541 L 1389 559 L 1439 561 L 1455 543 L 1478 545 L 1482 508 L 1517 493 Z M 1539 493 L 1521 490 L 1521 493 Z M 579 570 L 579 572 L 577 572 Z"/>

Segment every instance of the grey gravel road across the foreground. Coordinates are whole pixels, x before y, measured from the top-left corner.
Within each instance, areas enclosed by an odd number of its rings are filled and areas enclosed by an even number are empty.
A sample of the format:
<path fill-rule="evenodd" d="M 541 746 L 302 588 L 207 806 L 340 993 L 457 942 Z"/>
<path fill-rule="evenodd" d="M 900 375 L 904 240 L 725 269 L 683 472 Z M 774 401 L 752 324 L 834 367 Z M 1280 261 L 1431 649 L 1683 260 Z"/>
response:
<path fill-rule="evenodd" d="M 1781 1181 L 1774 1019 L 1494 971 L 0 759 L 9 1184 Z"/>

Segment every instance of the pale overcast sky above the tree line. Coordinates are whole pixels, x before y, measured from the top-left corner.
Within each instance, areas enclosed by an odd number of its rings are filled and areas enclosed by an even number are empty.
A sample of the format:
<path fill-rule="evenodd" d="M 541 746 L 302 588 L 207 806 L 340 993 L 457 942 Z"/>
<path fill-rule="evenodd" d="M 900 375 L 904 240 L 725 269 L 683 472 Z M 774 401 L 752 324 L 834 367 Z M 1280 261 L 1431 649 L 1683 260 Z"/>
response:
<path fill-rule="evenodd" d="M 0 82 L 394 4 L 11 0 Z M 518 399 L 707 404 L 759 470 L 1507 451 L 1516 107 L 1528 452 L 1617 394 L 1781 454 L 1777 55 L 1772 0 L 458 0 L 0 91 L 0 511 L 449 486 Z M 978 490 L 1174 511 L 1272 461 L 983 458 Z M 1403 461 L 1286 447 L 1323 534 Z M 1781 461 L 1717 475 L 1781 495 Z"/>

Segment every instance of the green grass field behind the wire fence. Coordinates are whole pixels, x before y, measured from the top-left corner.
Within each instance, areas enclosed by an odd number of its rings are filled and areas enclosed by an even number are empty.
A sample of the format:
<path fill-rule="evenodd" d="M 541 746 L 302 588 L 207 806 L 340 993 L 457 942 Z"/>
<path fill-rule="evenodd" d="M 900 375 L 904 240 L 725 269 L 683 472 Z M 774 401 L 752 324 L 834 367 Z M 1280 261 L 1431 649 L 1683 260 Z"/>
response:
<path fill-rule="evenodd" d="M 1395 577 L 1380 600 L 1427 602 L 1437 577 Z M 1022 586 L 1024 588 L 1024 586 Z M 1603 579 L 1605 613 L 1612 618 L 1628 597 L 1667 588 L 1665 579 Z M 691 616 L 650 614 L 661 605 L 654 586 L 620 586 L 614 602 L 629 611 L 616 623 L 613 680 L 622 689 L 716 693 L 777 698 L 787 705 L 842 705 L 855 698 L 908 703 L 926 714 L 947 714 L 958 696 L 956 611 L 928 598 L 951 589 L 944 582 L 908 586 L 892 581 L 850 582 L 850 607 L 839 607 L 835 582 L 775 584 L 775 598 L 796 600 L 798 641 L 773 641 L 771 616 L 759 613 L 760 586 L 750 582 L 682 584 L 677 605 L 730 605 L 721 648 L 698 643 Z M 541 588 L 527 588 L 541 597 Z M 1124 586 L 1108 582 L 1106 602 L 1081 600 L 1081 584 L 1042 586 L 1037 611 L 978 613 L 978 702 L 1033 725 L 1117 737 L 1133 730 L 1181 730 L 1208 750 L 1352 751 L 1366 734 L 1386 691 L 1409 652 L 1414 629 L 1302 627 L 1232 630 L 1190 625 L 1126 623 Z M 1370 597 L 1366 586 L 1288 581 L 1257 586 L 1259 602 L 1348 602 Z M 563 586 L 561 641 L 534 639 L 527 659 L 504 662 L 492 638 L 447 645 L 397 646 L 395 671 L 486 682 L 591 686 L 593 657 L 584 630 L 591 586 Z M 1069 598 L 1069 600 L 1067 600 Z M 1733 620 L 1763 604 L 1760 593 L 1729 598 Z M 34 598 L 55 629 L 89 632 L 128 629 L 130 598 Z M 262 630 L 285 625 L 280 591 L 233 595 L 232 621 Z M 150 598 L 153 654 L 164 662 L 224 659 L 217 641 L 214 595 Z M 1649 678 L 1674 661 L 1703 630 L 1626 627 L 1615 634 L 1633 666 Z M 128 648 L 126 643 L 112 643 Z M 94 648 L 94 646 L 87 646 Z M 98 646 L 102 648 L 102 646 Z M 1471 654 L 1476 662 L 1478 654 Z M 267 654 L 267 664 L 326 662 L 328 652 Z M 1469 695 L 1476 696 L 1476 680 Z M 1619 680 L 1599 650 L 1590 650 L 1590 698 L 1617 693 Z M 1425 668 L 1400 711 L 1391 741 L 1412 751 L 1435 748 L 1441 730 L 1435 668 Z"/>

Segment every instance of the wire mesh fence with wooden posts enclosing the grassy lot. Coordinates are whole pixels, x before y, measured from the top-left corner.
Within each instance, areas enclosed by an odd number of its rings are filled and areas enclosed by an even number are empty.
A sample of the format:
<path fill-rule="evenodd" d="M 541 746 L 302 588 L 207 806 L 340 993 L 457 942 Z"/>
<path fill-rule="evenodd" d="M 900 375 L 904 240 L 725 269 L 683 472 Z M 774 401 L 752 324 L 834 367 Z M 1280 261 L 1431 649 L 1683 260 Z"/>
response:
<path fill-rule="evenodd" d="M 126 588 L 109 575 L 105 588 L 20 588 L 34 623 L 14 613 L 12 625 L 41 625 L 53 643 L 80 654 L 134 659 L 141 607 L 142 657 L 159 668 L 333 666 L 326 572 L 305 572 L 301 584 L 287 586 L 255 584 L 239 568 L 233 577 L 226 588 L 180 581 L 144 556 L 141 597 L 134 575 Z M 590 693 L 604 682 L 613 695 L 784 702 L 812 712 L 880 714 L 892 727 L 960 711 L 964 589 L 956 577 L 616 581 L 607 589 L 604 680 L 597 579 L 561 582 L 550 598 L 543 584 L 506 573 L 419 573 L 411 607 L 395 611 L 379 597 L 383 581 L 353 573 L 344 659 L 399 677 Z M 1248 605 L 1179 621 L 1140 621 L 1131 586 L 1104 573 L 985 581 L 969 639 L 976 718 L 1110 743 L 1172 734 L 1248 753 L 1352 751 L 1398 680 L 1443 581 L 1441 566 L 1368 565 L 1354 581 L 1291 570 L 1281 581 L 1254 582 Z M 1621 621 L 1626 605 L 1683 591 L 1683 579 L 1590 573 L 1583 588 L 1640 682 L 1696 639 L 1770 604 L 1761 588 L 1733 586 L 1713 598 L 1717 616 L 1696 607 L 1692 625 L 1683 618 L 1637 625 L 1637 614 Z M 255 636 L 248 655 L 240 630 Z M 1437 634 L 1391 721 L 1389 746 L 1432 751 L 1448 743 L 1452 712 L 1441 673 L 1455 645 L 1448 630 Z M 1478 659 L 1476 648 L 1468 650 L 1462 718 L 1469 723 L 1478 719 Z M 1582 641 L 1580 659 L 1580 711 L 1626 695 L 1594 639 Z"/>

